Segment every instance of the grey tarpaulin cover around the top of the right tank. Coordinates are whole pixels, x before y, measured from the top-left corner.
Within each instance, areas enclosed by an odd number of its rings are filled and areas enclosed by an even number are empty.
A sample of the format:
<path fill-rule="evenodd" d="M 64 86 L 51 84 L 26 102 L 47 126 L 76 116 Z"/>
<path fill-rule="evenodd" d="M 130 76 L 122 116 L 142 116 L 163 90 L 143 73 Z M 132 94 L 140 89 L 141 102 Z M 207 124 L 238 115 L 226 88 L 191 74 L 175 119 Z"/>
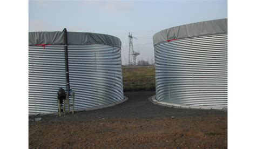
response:
<path fill-rule="evenodd" d="M 166 40 L 227 33 L 227 18 L 176 26 L 162 30 L 153 36 L 154 45 Z"/>

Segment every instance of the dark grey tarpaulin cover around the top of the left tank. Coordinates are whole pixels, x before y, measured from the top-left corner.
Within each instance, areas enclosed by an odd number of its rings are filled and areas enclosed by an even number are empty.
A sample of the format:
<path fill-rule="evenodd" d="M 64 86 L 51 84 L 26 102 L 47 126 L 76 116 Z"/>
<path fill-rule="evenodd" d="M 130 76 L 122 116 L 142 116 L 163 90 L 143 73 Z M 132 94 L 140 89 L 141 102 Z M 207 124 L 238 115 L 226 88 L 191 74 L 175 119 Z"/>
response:
<path fill-rule="evenodd" d="M 111 35 L 68 32 L 68 45 L 104 44 L 121 48 L 121 40 Z M 64 32 L 29 32 L 29 45 L 64 45 Z"/>

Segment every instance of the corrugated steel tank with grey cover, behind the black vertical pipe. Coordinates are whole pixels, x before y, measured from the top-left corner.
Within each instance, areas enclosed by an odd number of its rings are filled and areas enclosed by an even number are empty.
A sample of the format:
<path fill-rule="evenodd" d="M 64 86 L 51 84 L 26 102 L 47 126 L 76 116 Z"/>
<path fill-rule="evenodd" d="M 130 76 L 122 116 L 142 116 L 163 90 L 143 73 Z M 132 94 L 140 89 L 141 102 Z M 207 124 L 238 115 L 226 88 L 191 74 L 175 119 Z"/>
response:
<path fill-rule="evenodd" d="M 66 90 L 65 46 L 75 111 L 124 100 L 121 42 L 87 32 L 29 32 L 29 114 L 58 112 L 57 90 Z"/>

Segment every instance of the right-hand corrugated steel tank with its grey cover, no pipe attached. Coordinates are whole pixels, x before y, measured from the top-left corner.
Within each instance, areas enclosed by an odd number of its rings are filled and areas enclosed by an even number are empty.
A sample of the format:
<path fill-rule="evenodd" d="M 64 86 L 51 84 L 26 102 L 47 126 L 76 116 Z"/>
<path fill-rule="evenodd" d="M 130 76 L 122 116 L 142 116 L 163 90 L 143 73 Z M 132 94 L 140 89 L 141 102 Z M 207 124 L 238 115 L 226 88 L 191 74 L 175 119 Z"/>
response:
<path fill-rule="evenodd" d="M 166 29 L 153 43 L 157 101 L 227 108 L 227 19 Z"/>

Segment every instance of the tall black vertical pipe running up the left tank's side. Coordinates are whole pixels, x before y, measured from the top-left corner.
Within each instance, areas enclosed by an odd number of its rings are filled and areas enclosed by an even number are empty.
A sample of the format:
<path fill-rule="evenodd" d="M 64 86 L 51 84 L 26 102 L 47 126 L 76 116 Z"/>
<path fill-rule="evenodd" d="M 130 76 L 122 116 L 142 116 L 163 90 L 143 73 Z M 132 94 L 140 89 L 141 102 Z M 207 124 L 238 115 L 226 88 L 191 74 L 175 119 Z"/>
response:
<path fill-rule="evenodd" d="M 64 31 L 64 44 L 65 44 L 66 89 L 69 92 L 70 85 L 69 85 L 68 33 L 66 31 L 66 28 L 63 31 Z"/>

